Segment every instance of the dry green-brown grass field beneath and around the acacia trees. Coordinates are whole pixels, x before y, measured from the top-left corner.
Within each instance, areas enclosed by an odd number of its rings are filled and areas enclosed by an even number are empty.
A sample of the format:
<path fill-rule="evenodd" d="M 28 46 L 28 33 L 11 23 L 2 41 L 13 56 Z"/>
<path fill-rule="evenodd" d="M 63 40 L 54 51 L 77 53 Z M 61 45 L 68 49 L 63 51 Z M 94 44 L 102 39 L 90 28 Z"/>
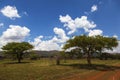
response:
<path fill-rule="evenodd" d="M 111 72 L 105 74 L 109 76 L 120 69 L 115 66 L 120 64 L 119 60 L 93 59 L 92 63 L 92 66 L 88 66 L 85 59 L 67 60 L 66 63 L 62 61 L 61 65 L 57 66 L 52 59 L 24 60 L 20 64 L 16 61 L 0 60 L 0 80 L 67 80 L 77 75 L 85 80 L 86 76 L 91 77 L 105 70 Z"/>

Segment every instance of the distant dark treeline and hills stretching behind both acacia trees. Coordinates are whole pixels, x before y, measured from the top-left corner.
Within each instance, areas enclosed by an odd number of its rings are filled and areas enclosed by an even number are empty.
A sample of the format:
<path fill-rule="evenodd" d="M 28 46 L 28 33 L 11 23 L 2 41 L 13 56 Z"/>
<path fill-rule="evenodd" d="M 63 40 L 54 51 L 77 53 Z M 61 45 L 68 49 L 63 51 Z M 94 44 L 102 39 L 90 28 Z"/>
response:
<path fill-rule="evenodd" d="M 24 58 L 29 58 L 31 60 L 37 60 L 41 58 L 55 58 L 56 56 L 59 56 L 61 59 L 82 59 L 86 58 L 87 55 L 84 53 L 80 53 L 77 51 L 70 51 L 70 52 L 63 52 L 63 51 L 31 51 L 30 53 L 26 53 L 24 55 Z M 92 54 L 91 58 L 98 58 L 100 60 L 108 60 L 108 59 L 120 59 L 120 53 L 101 53 Z M 0 52 L 0 59 L 13 59 L 16 58 L 13 57 L 13 55 L 7 55 L 3 54 L 3 52 Z"/>

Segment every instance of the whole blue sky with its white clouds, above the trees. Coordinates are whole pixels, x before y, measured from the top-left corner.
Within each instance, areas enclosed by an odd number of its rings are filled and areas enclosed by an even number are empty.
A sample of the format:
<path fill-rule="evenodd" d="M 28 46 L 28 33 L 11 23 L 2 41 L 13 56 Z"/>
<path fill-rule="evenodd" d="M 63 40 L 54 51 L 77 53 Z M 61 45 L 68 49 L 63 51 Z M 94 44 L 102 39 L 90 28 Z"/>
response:
<path fill-rule="evenodd" d="M 29 41 L 37 50 L 60 50 L 71 36 L 120 39 L 119 30 L 120 0 L 0 0 L 0 46 Z"/>

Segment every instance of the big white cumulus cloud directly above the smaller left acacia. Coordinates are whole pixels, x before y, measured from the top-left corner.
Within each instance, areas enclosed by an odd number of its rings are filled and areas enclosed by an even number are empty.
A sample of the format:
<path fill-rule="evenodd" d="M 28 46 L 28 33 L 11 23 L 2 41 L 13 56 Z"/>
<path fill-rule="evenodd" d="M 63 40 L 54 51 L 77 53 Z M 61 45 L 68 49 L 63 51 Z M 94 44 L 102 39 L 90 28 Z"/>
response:
<path fill-rule="evenodd" d="M 0 36 L 0 47 L 8 42 L 21 42 L 29 36 L 30 30 L 19 25 L 10 25 Z"/>

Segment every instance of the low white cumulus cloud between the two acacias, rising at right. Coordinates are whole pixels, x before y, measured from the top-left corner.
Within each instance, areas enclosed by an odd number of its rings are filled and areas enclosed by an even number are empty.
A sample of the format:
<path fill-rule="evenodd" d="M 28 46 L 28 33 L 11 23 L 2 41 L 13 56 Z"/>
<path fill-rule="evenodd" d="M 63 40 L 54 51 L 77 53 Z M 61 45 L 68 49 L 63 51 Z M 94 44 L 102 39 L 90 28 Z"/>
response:
<path fill-rule="evenodd" d="M 69 39 L 66 36 L 65 31 L 61 28 L 55 27 L 53 29 L 55 35 L 50 40 L 42 40 L 44 36 L 38 36 L 33 42 L 30 42 L 35 46 L 35 50 L 61 50 L 61 46 Z"/>

